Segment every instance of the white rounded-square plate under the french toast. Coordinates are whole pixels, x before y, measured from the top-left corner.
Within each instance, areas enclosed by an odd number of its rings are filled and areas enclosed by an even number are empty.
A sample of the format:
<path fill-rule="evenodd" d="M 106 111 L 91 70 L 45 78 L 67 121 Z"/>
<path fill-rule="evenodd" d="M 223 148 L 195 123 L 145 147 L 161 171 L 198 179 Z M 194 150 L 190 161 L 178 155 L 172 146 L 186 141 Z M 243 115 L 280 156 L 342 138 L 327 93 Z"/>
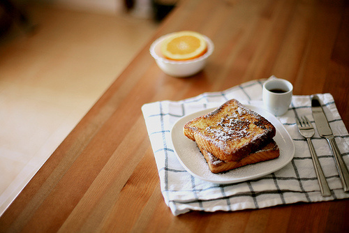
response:
<path fill-rule="evenodd" d="M 276 117 L 274 117 L 274 115 L 260 107 L 255 107 L 252 105 L 245 106 L 250 110 L 257 112 L 262 117 L 265 117 L 265 119 L 270 121 L 275 126 L 276 135 L 274 140 L 280 149 L 279 158 L 262 163 L 246 165 L 225 173 L 212 173 L 209 170 L 209 166 L 207 165 L 204 156 L 202 156 L 200 153 L 196 142 L 189 140 L 183 134 L 183 126 L 186 122 L 216 109 L 211 108 L 181 117 L 181 119 L 174 124 L 171 130 L 174 152 L 176 153 L 181 165 L 183 165 L 183 167 L 189 173 L 198 177 L 199 179 L 212 183 L 237 183 L 265 176 L 280 170 L 282 167 L 290 163 L 295 155 L 295 145 L 293 144 L 292 138 L 288 134 L 288 131 L 283 127 L 282 123 Z"/>

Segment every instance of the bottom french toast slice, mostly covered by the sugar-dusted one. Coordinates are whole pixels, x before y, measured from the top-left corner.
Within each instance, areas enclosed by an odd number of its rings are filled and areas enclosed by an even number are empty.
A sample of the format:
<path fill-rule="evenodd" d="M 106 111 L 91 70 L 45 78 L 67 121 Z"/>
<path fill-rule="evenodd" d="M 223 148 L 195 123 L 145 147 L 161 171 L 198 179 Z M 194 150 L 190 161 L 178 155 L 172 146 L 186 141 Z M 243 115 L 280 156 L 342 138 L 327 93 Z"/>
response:
<path fill-rule="evenodd" d="M 262 149 L 259 149 L 258 151 L 250 153 L 248 156 L 242 158 L 241 160 L 228 163 L 223 160 L 220 160 L 205 149 L 200 148 L 200 146 L 199 149 L 202 153 L 202 156 L 204 156 L 207 165 L 209 165 L 209 170 L 212 173 L 227 172 L 237 167 L 243 167 L 245 165 L 250 165 L 253 163 L 272 160 L 280 156 L 279 146 L 276 144 L 274 140 L 267 144 L 267 146 L 262 147 Z"/>

